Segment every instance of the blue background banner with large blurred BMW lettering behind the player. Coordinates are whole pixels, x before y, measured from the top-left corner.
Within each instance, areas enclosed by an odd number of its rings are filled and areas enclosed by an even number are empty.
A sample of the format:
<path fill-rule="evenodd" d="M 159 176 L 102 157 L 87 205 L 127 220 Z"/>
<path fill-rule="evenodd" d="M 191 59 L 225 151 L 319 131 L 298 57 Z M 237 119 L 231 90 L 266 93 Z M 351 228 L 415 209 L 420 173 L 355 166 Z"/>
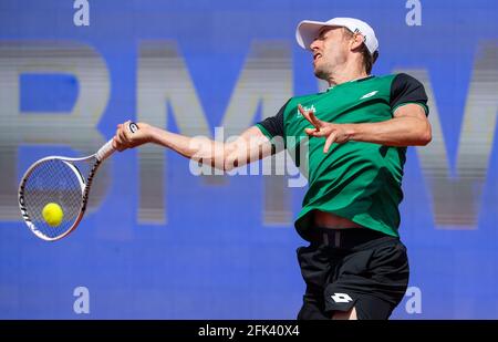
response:
<path fill-rule="evenodd" d="M 77 25 L 85 2 L 0 2 L 0 318 L 295 318 L 295 175 L 199 177 L 173 152 L 127 151 L 52 243 L 27 229 L 17 186 L 38 158 L 92 154 L 126 120 L 227 138 L 276 114 L 323 86 L 297 24 L 333 17 L 375 29 L 373 74 L 407 72 L 429 96 L 433 142 L 405 165 L 412 274 L 392 318 L 498 318 L 495 2 L 89 0 Z"/>

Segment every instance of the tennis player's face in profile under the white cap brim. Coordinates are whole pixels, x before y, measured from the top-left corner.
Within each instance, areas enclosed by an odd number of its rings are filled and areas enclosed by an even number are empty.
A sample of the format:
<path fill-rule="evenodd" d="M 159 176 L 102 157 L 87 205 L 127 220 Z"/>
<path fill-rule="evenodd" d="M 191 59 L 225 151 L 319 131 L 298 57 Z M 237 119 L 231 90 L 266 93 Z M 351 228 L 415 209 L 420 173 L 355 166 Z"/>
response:
<path fill-rule="evenodd" d="M 343 28 L 323 28 L 310 44 L 310 49 L 313 53 L 314 75 L 325 81 L 338 65 L 347 60 L 350 52 Z"/>

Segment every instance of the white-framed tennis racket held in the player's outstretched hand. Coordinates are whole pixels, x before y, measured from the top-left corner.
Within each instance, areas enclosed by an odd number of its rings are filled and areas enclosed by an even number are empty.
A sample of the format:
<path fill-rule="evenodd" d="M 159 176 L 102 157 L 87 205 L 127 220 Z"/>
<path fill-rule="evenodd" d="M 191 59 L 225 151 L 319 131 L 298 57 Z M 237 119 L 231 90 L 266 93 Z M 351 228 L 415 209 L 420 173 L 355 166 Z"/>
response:
<path fill-rule="evenodd" d="M 135 133 L 138 126 L 129 123 L 128 129 Z M 19 184 L 19 208 L 28 228 L 46 241 L 60 240 L 73 231 L 85 213 L 98 166 L 114 151 L 111 139 L 91 156 L 50 156 L 33 163 Z M 48 204 L 56 204 L 62 209 L 62 220 L 55 227 L 43 217 Z"/>

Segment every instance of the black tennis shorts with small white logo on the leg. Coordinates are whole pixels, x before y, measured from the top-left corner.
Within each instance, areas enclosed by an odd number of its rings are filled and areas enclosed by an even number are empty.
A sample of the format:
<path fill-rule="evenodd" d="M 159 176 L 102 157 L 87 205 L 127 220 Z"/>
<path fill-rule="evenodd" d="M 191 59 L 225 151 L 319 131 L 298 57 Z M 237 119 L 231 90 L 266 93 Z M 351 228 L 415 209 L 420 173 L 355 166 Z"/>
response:
<path fill-rule="evenodd" d="M 353 307 L 359 319 L 386 320 L 408 286 L 406 247 L 367 228 L 313 228 L 298 260 L 307 283 L 298 320 L 331 319 Z"/>

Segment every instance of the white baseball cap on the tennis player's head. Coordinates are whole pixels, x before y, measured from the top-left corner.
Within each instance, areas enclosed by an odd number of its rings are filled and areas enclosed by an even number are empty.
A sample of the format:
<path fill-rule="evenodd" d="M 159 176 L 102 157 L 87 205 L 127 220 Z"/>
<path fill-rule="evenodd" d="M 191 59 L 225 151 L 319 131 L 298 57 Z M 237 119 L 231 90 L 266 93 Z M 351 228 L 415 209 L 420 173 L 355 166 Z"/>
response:
<path fill-rule="evenodd" d="M 364 44 L 369 49 L 370 54 L 378 50 L 378 41 L 374 30 L 364 21 L 354 18 L 334 18 L 325 22 L 303 20 L 298 24 L 295 30 L 295 39 L 302 49 L 310 50 L 310 44 L 319 35 L 323 27 L 341 27 L 346 28 L 353 33 L 360 33 L 364 38 Z"/>

